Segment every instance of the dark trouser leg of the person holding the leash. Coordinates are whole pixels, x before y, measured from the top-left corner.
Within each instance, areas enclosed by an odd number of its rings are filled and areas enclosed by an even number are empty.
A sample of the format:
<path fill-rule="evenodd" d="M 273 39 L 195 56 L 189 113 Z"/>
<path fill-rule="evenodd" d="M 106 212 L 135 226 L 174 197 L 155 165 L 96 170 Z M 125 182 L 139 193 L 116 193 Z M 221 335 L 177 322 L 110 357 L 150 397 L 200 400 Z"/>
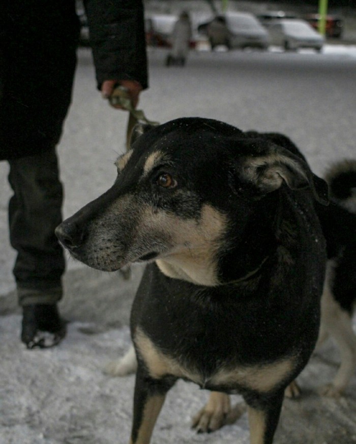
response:
<path fill-rule="evenodd" d="M 54 234 L 62 221 L 63 187 L 55 148 L 9 160 L 10 241 L 19 304 L 54 303 L 62 297 L 64 254 Z"/>

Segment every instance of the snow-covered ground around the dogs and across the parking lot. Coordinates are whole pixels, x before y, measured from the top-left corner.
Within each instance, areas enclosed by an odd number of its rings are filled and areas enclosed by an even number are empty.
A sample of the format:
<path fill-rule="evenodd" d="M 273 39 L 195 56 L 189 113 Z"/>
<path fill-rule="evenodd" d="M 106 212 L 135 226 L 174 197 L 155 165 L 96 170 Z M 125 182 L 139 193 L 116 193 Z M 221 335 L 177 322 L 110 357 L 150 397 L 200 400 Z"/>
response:
<path fill-rule="evenodd" d="M 242 129 L 283 131 L 303 147 L 318 174 L 335 159 L 356 156 L 356 46 L 327 45 L 322 54 L 192 53 L 184 69 L 165 68 L 164 57 L 164 51 L 150 52 L 151 88 L 140 103 L 147 117 L 161 122 L 211 117 Z M 81 49 L 60 146 L 65 216 L 111 185 L 125 126 L 126 116 L 95 92 L 90 53 Z M 25 350 L 11 276 L 4 162 L 0 173 L 0 444 L 126 443 L 134 377 L 110 378 L 102 368 L 130 343 L 129 310 L 142 269 L 133 267 L 131 281 L 124 281 L 120 274 L 69 261 L 61 304 L 67 338 L 50 350 Z M 331 344 L 312 358 L 300 377 L 303 398 L 285 402 L 276 444 L 356 442 L 356 378 L 341 400 L 315 393 L 331 380 L 337 362 Z M 190 418 L 206 398 L 195 385 L 179 382 L 168 394 L 153 444 L 247 444 L 246 414 L 210 435 L 190 429 Z"/>

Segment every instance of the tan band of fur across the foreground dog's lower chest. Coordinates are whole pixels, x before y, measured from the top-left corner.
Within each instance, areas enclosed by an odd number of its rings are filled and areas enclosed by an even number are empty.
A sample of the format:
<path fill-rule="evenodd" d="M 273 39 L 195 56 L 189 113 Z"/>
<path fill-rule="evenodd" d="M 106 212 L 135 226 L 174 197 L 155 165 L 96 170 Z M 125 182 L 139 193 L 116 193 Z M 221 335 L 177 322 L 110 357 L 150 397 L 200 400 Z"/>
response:
<path fill-rule="evenodd" d="M 195 382 L 204 389 L 239 393 L 241 390 L 269 392 L 294 368 L 293 358 L 261 365 L 234 365 L 221 363 L 214 371 L 206 372 L 199 365 L 189 368 L 184 359 L 163 353 L 141 329 L 137 329 L 135 345 L 150 375 L 155 379 L 174 376 Z"/>

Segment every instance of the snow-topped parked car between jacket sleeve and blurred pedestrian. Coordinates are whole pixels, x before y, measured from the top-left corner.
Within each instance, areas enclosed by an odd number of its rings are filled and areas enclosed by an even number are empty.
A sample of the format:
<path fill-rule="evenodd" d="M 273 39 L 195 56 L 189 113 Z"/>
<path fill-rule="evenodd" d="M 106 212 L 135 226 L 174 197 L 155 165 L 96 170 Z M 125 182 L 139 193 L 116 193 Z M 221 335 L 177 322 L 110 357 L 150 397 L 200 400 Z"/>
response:
<path fill-rule="evenodd" d="M 146 43 L 149 46 L 169 48 L 169 38 L 178 17 L 173 14 L 152 14 L 144 19 Z"/>

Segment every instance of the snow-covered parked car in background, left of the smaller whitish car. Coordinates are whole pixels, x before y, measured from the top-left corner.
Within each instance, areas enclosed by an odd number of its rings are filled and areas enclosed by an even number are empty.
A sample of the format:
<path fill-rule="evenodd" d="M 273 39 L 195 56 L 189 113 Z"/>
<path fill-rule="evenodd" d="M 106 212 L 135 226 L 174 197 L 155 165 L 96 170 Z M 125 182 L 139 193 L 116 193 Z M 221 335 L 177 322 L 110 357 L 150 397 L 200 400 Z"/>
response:
<path fill-rule="evenodd" d="M 198 32 L 209 35 L 209 29 L 213 23 L 225 23 L 227 28 L 224 44 L 229 48 L 260 48 L 267 49 L 269 46 L 269 35 L 264 27 L 252 14 L 243 12 L 226 12 L 214 17 L 212 20 L 201 23 Z M 221 39 L 210 36 L 211 46 L 214 48 L 221 44 Z"/>

